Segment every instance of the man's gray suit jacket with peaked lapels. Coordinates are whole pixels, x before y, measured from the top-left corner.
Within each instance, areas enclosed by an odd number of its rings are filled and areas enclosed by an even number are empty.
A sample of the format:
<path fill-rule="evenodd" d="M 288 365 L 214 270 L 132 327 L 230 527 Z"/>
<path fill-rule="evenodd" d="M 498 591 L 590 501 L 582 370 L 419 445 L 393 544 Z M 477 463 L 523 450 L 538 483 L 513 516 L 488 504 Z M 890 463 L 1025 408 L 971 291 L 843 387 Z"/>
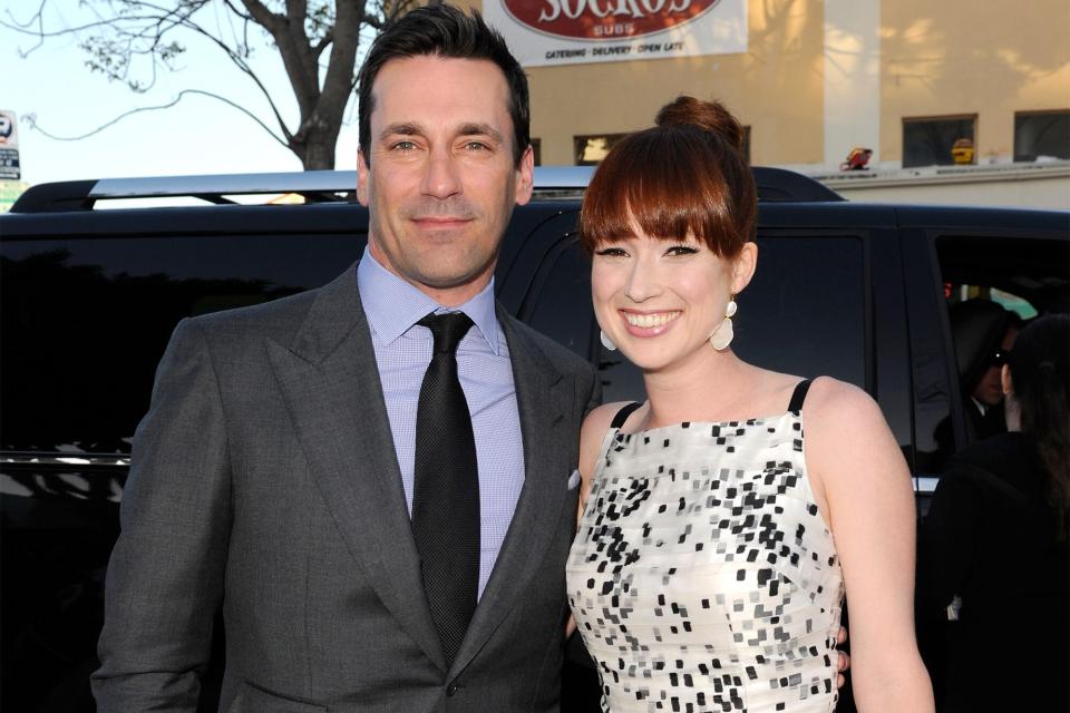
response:
<path fill-rule="evenodd" d="M 101 713 L 554 711 L 591 367 L 499 307 L 526 479 L 457 660 L 428 612 L 354 271 L 184 321 L 137 429 L 108 567 Z"/>

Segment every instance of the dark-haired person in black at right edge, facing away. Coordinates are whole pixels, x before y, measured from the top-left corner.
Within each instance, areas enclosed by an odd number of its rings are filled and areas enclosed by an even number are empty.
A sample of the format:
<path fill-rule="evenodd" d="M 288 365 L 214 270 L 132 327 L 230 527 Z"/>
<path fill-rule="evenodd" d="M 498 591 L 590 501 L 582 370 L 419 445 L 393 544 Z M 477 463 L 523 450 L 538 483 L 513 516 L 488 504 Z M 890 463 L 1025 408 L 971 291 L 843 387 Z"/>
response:
<path fill-rule="evenodd" d="M 1001 369 L 1008 432 L 956 455 L 922 528 L 920 615 L 945 622 L 938 710 L 1070 710 L 1070 316 Z"/>

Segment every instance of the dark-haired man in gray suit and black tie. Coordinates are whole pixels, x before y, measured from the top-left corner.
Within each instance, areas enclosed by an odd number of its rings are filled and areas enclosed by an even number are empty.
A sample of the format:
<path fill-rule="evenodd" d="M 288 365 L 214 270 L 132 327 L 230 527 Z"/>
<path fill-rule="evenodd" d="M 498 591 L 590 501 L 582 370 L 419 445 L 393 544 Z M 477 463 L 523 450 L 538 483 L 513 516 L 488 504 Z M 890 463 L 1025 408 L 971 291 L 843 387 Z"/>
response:
<path fill-rule="evenodd" d="M 599 387 L 493 297 L 532 192 L 526 79 L 478 17 L 439 6 L 380 36 L 360 87 L 359 265 L 186 320 L 160 362 L 108 568 L 103 713 L 195 710 L 220 609 L 223 711 L 557 709 L 570 475 Z M 425 323 L 454 312 L 464 336 L 444 352 Z M 421 383 L 440 356 L 477 470 L 474 611 L 453 632 L 427 580 L 435 543 L 414 536 L 420 512 L 449 529 L 465 505 L 420 495 Z"/>

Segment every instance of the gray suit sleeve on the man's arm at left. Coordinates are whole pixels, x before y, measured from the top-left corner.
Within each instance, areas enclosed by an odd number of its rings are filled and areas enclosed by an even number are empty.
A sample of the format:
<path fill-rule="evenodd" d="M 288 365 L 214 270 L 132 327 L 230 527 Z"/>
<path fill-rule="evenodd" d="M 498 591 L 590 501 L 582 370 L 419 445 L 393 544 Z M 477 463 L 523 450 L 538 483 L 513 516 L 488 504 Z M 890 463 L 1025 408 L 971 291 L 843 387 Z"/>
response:
<path fill-rule="evenodd" d="M 99 713 L 195 711 L 223 598 L 226 423 L 196 321 L 175 330 L 134 437 L 93 674 Z"/>

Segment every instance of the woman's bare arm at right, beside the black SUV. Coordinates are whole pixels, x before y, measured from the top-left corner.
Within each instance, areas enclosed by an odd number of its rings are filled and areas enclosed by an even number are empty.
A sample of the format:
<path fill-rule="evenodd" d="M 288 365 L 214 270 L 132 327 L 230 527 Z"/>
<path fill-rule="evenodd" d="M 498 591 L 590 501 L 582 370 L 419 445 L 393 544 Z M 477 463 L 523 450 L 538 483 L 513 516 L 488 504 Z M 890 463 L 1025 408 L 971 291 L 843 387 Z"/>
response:
<path fill-rule="evenodd" d="M 850 606 L 859 711 L 933 711 L 914 637 L 914 495 L 881 409 L 818 379 L 802 409 L 807 469 L 833 531 Z"/>

